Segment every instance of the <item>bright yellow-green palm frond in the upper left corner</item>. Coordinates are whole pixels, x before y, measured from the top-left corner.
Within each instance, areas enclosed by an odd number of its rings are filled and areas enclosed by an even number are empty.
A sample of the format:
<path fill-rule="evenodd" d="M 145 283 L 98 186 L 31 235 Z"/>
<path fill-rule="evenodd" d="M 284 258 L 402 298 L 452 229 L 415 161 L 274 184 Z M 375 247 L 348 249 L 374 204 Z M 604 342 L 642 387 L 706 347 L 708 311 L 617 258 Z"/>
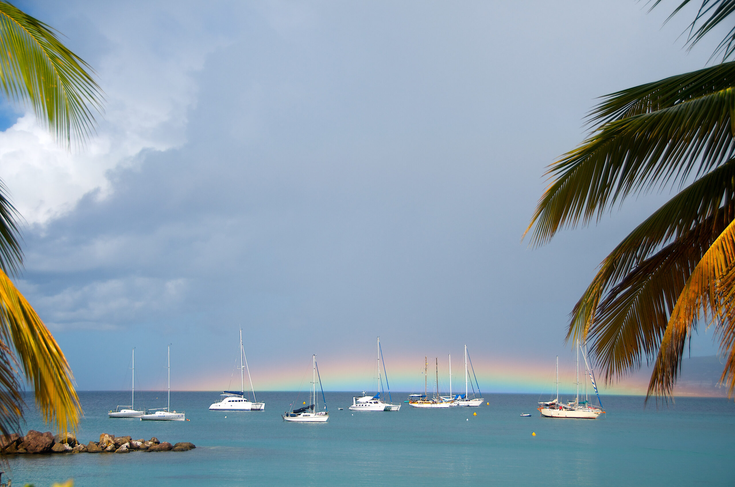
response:
<path fill-rule="evenodd" d="M 101 113 L 102 92 L 84 60 L 54 30 L 0 1 L 0 88 L 14 102 L 28 102 L 60 143 L 84 143 Z"/>

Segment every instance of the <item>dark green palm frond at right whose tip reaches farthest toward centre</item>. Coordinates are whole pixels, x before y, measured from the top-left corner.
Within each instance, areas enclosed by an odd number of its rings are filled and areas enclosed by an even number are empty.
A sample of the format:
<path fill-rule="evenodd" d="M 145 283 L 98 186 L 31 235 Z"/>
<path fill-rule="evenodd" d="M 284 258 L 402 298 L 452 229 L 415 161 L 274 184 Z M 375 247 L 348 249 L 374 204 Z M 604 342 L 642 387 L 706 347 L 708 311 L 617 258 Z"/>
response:
<path fill-rule="evenodd" d="M 526 233 L 542 244 L 564 227 L 601 218 L 618 200 L 654 185 L 705 174 L 735 153 L 735 88 L 601 127 L 547 171 L 556 178 L 542 195 Z M 524 234 L 525 236 L 526 234 Z"/>

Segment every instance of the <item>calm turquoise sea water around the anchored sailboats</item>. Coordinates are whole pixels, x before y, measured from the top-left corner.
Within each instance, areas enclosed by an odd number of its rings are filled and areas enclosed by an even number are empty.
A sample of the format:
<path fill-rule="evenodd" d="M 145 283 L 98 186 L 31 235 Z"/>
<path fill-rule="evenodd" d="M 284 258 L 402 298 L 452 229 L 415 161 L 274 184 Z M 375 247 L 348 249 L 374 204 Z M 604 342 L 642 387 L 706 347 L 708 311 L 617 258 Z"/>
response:
<path fill-rule="evenodd" d="M 7 475 L 10 467 L 14 485 L 27 482 L 36 487 L 70 477 L 76 486 L 735 483 L 735 404 L 726 399 L 681 398 L 674 407 L 656 410 L 656 405 L 644 409 L 642 397 L 603 397 L 609 412 L 604 419 L 590 421 L 539 418 L 539 397 L 529 394 L 486 394 L 490 406 L 481 408 L 421 410 L 405 404 L 397 413 L 353 413 L 347 409 L 352 395 L 327 392 L 329 422 L 298 424 L 280 417 L 294 393 L 258 394 L 266 403 L 262 412 L 223 413 L 207 410 L 216 393 L 173 392 L 172 409 L 186 410 L 191 421 L 142 422 L 107 418 L 111 407 L 128 403 L 128 393 L 81 392 L 86 416 L 80 441 L 114 433 L 157 436 L 171 443 L 192 441 L 197 448 L 127 455 L 19 455 L 4 470 Z M 138 398 L 149 408 L 165 405 L 165 392 L 144 391 Z M 394 402 L 398 398 L 406 399 L 393 394 Z M 520 413 L 533 416 L 523 418 Z M 31 417 L 26 429 L 49 428 Z"/>

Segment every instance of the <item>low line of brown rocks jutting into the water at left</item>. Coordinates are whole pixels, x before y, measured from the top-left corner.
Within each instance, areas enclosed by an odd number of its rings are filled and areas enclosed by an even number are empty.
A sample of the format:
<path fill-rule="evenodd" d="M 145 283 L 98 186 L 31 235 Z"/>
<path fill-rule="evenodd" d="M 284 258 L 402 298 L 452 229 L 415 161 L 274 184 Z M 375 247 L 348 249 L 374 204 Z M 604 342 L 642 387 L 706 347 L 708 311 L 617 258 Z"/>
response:
<path fill-rule="evenodd" d="M 26 436 L 12 433 L 0 436 L 0 452 L 4 455 L 25 455 L 29 453 L 128 453 L 128 452 L 186 452 L 196 448 L 193 443 L 181 441 L 176 444 L 158 441 L 155 436 L 150 440 L 134 440 L 130 436 L 115 436 L 102 433 L 99 441 L 87 444 L 76 441 L 71 433 L 53 436 L 49 431 L 41 433 L 29 430 Z"/>

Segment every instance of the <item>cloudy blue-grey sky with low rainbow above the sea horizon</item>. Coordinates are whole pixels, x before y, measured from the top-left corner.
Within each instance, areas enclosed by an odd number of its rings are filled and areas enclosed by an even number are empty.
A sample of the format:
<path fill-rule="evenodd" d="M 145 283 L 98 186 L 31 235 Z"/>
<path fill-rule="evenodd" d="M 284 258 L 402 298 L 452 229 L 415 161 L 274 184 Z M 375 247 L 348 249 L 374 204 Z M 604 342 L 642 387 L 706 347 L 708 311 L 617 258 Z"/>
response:
<path fill-rule="evenodd" d="M 128 388 L 133 347 L 165 388 L 168 344 L 172 389 L 230 387 L 240 327 L 261 390 L 312 354 L 326 389 L 370 390 L 378 335 L 393 390 L 423 389 L 425 357 L 462 381 L 465 344 L 485 391 L 551 390 L 574 303 L 671 193 L 521 236 L 598 96 L 707 65 L 723 33 L 687 51 L 674 4 L 21 1 L 106 109 L 67 152 L 0 107 L 18 287 L 80 390 Z M 716 352 L 700 331 L 692 355 Z"/>

